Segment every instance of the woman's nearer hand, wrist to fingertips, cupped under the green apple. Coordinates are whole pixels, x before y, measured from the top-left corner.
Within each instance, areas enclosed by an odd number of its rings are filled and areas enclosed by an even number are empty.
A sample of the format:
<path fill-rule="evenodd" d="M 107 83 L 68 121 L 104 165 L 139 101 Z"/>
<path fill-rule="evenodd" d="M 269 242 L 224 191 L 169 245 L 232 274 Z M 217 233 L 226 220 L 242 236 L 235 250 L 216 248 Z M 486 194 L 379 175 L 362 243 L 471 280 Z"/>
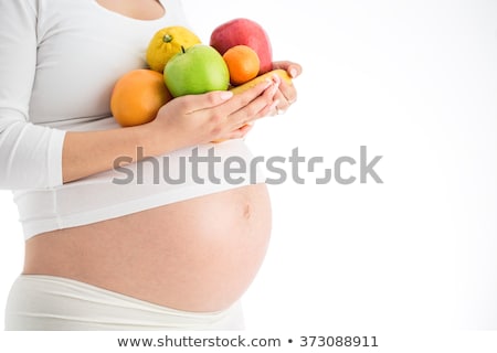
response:
<path fill-rule="evenodd" d="M 279 83 L 267 81 L 239 95 L 211 92 L 172 99 L 149 122 L 162 147 L 156 152 L 244 137 L 254 120 L 276 109 Z M 166 138 L 173 141 L 165 143 Z"/>

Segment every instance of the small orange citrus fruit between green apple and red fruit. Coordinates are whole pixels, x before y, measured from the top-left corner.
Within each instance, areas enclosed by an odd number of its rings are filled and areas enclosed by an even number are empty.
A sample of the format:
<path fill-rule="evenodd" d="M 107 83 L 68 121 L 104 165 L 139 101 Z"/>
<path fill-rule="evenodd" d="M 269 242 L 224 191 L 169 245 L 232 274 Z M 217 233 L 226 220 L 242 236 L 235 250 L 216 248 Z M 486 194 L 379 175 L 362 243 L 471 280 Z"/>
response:
<path fill-rule="evenodd" d="M 233 86 L 244 84 L 256 77 L 261 68 L 257 53 L 247 45 L 230 47 L 223 55 Z"/>

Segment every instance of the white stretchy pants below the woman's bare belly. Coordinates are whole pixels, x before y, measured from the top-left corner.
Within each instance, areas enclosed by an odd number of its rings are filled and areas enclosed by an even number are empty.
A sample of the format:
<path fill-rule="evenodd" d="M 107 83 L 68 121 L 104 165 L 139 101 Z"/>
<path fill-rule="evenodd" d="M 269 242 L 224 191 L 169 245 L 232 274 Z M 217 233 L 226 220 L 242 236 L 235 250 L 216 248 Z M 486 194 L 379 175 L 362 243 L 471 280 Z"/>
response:
<path fill-rule="evenodd" d="M 242 329 L 240 303 L 224 311 L 188 312 L 53 276 L 21 275 L 6 309 L 10 331 Z"/>

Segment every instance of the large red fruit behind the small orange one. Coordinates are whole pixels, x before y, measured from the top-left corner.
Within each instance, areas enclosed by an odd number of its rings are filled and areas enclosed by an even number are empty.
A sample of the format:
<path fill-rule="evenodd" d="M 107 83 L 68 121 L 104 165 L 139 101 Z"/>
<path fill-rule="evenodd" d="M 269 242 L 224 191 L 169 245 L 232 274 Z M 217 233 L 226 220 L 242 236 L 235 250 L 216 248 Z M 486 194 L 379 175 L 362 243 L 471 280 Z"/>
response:
<path fill-rule="evenodd" d="M 258 75 L 273 68 L 273 50 L 266 31 L 248 19 L 234 19 L 214 29 L 210 45 L 223 55 L 230 47 L 247 45 L 258 55 L 261 69 Z"/>

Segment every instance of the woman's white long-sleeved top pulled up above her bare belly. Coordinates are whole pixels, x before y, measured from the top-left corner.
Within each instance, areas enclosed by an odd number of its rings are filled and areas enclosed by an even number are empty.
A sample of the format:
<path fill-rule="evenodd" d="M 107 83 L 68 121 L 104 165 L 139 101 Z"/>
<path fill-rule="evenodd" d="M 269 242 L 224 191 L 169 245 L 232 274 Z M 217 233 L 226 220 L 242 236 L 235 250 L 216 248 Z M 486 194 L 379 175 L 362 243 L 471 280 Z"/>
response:
<path fill-rule="evenodd" d="M 25 238 L 260 182 L 245 143 L 234 140 L 62 183 L 65 131 L 118 127 L 109 113 L 115 82 L 145 67 L 156 31 L 187 25 L 179 0 L 160 2 L 165 15 L 151 21 L 95 0 L 0 2 L 0 188 L 13 190 Z"/>

